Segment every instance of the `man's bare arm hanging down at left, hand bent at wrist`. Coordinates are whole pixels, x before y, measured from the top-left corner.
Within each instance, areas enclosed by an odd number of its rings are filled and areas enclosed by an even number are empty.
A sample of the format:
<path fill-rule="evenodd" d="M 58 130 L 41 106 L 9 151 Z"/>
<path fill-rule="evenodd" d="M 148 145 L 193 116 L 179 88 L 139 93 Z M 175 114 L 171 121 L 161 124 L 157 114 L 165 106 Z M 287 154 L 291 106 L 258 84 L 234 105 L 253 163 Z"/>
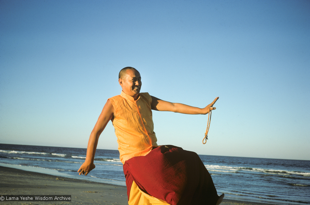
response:
<path fill-rule="evenodd" d="M 99 139 L 100 134 L 104 130 L 105 126 L 112 119 L 113 113 L 114 113 L 114 107 L 111 101 L 108 100 L 102 109 L 102 112 L 95 124 L 94 129 L 91 131 L 91 135 L 89 137 L 88 145 L 87 145 L 86 159 L 85 159 L 85 162 L 82 164 L 82 166 L 78 170 L 79 175 L 81 174 L 87 175 L 91 170 L 95 168 L 94 158 L 95 158 L 95 152 L 97 148 L 98 139 Z"/>

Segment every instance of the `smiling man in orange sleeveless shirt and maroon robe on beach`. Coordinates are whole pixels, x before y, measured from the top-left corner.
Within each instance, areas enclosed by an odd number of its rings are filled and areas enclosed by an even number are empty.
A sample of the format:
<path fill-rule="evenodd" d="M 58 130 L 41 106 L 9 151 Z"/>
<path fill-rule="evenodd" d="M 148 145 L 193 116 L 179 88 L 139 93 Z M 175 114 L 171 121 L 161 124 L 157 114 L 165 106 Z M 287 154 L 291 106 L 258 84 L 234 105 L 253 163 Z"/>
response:
<path fill-rule="evenodd" d="M 220 204 L 212 178 L 194 152 L 172 145 L 157 146 L 152 110 L 184 114 L 207 114 L 218 97 L 205 108 L 167 102 L 148 93 L 140 93 L 141 76 L 132 67 L 119 73 L 120 95 L 109 98 L 91 132 L 86 160 L 79 175 L 95 168 L 98 139 L 108 121 L 117 136 L 120 160 L 126 177 L 129 205 L 143 204 Z"/>

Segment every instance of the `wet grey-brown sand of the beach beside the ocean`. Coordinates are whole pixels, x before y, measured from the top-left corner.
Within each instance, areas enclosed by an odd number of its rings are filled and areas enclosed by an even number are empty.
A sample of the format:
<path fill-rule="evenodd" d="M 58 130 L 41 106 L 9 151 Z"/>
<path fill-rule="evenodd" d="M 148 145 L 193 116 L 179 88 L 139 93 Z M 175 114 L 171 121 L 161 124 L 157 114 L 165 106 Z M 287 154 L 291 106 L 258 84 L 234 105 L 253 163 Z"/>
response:
<path fill-rule="evenodd" d="M 83 178 L 84 176 L 81 176 Z M 1 204 L 53 205 L 53 204 L 103 204 L 126 205 L 125 186 L 77 180 L 60 176 L 0 166 L 0 195 L 71 195 L 71 202 L 1 202 Z M 224 205 L 263 205 L 224 199 Z"/>

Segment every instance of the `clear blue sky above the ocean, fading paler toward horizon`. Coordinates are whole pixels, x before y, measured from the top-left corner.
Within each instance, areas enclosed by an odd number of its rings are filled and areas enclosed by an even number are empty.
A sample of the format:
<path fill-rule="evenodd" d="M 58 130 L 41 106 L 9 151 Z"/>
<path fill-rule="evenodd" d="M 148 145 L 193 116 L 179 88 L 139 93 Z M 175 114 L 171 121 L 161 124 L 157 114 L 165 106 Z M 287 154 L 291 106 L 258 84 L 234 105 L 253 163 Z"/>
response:
<path fill-rule="evenodd" d="M 310 160 L 310 1 L 0 0 L 0 143 L 86 148 L 118 72 L 205 107 L 153 111 L 158 144 Z M 117 149 L 111 122 L 98 148 Z"/>

